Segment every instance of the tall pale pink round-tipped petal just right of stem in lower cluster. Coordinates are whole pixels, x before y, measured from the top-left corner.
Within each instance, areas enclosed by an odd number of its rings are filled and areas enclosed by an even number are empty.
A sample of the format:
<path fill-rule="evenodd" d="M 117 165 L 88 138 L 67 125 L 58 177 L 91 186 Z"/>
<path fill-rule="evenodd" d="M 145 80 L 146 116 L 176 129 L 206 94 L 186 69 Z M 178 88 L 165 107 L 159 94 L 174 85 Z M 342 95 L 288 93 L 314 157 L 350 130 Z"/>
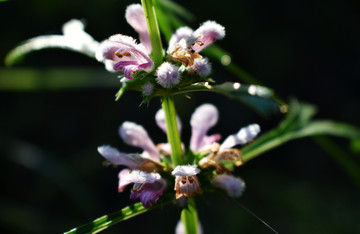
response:
<path fill-rule="evenodd" d="M 217 123 L 218 118 L 219 112 L 212 104 L 203 104 L 196 108 L 190 120 L 192 129 L 190 148 L 193 151 L 198 151 L 206 146 L 206 133 Z"/>

